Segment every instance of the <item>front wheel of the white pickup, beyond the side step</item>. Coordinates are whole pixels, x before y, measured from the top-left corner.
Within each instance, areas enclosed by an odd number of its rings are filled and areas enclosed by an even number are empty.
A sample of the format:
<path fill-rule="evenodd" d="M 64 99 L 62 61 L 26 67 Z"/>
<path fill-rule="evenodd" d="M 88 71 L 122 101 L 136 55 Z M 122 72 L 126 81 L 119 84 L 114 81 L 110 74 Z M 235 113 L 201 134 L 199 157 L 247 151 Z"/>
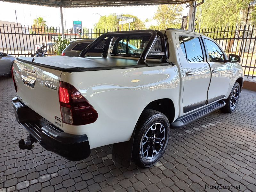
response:
<path fill-rule="evenodd" d="M 233 89 L 230 92 L 230 95 L 228 96 L 227 99 L 224 100 L 226 102 L 226 105 L 220 108 L 220 110 L 224 113 L 232 113 L 236 109 L 240 97 L 240 92 L 240 84 L 236 82 Z"/>

